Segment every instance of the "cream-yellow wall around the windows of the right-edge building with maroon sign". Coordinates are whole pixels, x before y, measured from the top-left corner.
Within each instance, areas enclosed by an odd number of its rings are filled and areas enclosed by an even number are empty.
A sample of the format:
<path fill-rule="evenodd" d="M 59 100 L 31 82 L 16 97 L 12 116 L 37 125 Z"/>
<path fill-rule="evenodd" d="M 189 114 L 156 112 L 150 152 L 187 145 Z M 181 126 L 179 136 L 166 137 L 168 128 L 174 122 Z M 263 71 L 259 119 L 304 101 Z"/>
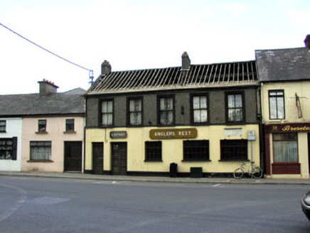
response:
<path fill-rule="evenodd" d="M 269 119 L 269 90 L 284 90 L 284 112 L 285 118 L 282 120 Z M 262 119 L 266 125 L 283 124 L 289 126 L 289 124 L 309 124 L 310 123 L 310 82 L 269 82 L 262 84 Z M 296 96 L 299 97 L 301 104 L 302 116 L 299 117 L 296 107 Z M 267 178 L 309 178 L 309 131 L 301 132 L 296 131 L 297 146 L 298 146 L 298 158 L 300 163 L 300 174 L 274 174 L 272 170 L 272 164 L 274 163 L 274 151 L 273 151 L 273 134 L 269 134 L 269 161 L 267 159 L 267 170 L 269 168 L 270 174 L 267 174 Z M 267 148 L 267 149 L 268 149 Z M 268 158 L 268 155 L 267 155 Z"/>

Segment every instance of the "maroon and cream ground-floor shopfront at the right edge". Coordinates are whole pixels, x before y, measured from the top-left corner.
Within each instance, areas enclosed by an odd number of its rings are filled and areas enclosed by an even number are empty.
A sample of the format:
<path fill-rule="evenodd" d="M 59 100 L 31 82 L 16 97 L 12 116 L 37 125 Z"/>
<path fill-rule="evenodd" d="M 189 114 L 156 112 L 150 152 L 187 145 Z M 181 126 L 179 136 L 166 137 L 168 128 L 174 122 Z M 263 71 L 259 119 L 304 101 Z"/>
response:
<path fill-rule="evenodd" d="M 266 124 L 266 173 L 272 178 L 309 178 L 310 123 Z"/>

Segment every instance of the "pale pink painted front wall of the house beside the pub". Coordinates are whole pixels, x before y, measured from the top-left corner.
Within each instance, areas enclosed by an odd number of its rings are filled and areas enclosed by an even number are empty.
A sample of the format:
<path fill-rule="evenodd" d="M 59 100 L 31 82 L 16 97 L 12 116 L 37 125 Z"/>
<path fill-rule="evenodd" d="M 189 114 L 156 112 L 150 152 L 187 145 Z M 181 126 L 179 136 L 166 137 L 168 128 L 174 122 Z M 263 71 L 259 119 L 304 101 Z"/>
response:
<path fill-rule="evenodd" d="M 48 134 L 36 134 L 38 120 L 46 119 Z M 65 134 L 65 119 L 75 119 L 75 134 Z M 84 120 L 81 116 L 40 117 L 23 119 L 22 171 L 60 172 L 64 171 L 64 141 L 83 141 Z M 30 161 L 30 141 L 52 141 L 53 162 Z M 82 149 L 83 151 L 83 149 Z"/>

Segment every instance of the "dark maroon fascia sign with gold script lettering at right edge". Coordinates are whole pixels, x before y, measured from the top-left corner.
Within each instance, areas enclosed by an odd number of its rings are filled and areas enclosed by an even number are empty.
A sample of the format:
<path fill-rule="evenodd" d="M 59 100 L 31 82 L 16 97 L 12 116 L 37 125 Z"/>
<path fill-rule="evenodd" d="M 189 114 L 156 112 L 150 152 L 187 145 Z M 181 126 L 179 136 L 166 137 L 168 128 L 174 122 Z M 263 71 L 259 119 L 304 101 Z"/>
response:
<path fill-rule="evenodd" d="M 309 133 L 310 123 L 266 124 L 265 131 L 272 133 Z"/>

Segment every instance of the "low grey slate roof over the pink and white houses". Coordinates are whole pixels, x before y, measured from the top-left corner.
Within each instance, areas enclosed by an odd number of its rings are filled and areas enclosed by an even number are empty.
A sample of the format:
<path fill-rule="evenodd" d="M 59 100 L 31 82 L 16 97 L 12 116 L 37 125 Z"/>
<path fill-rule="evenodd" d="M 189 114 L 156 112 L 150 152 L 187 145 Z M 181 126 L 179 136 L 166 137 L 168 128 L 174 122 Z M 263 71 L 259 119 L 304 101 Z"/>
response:
<path fill-rule="evenodd" d="M 45 96 L 40 94 L 0 95 L 0 117 L 83 113 L 84 97 L 81 94 L 64 92 Z"/>

